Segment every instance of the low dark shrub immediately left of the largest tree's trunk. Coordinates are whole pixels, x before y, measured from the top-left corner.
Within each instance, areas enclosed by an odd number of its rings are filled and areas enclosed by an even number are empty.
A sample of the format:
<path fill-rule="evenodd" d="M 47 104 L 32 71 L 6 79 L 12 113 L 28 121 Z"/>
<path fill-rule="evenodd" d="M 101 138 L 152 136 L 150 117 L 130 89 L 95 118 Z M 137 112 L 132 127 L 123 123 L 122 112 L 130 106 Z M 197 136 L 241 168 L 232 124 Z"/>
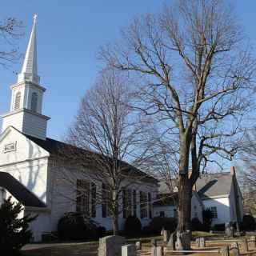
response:
<path fill-rule="evenodd" d="M 147 231 L 150 234 L 160 234 L 162 228 L 165 230 L 169 230 L 170 233 L 174 232 L 177 227 L 177 219 L 176 218 L 162 218 L 162 217 L 155 217 L 152 218 L 150 225 L 147 227 Z"/>

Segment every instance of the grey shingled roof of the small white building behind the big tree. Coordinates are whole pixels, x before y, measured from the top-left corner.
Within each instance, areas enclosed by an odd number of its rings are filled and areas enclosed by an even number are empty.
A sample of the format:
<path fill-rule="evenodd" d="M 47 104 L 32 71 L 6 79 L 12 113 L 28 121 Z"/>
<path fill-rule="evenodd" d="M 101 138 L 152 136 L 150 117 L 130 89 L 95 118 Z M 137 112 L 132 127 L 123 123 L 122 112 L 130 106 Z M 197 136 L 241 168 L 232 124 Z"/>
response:
<path fill-rule="evenodd" d="M 230 194 L 232 176 L 230 173 L 203 174 L 196 182 L 196 190 L 202 199 Z"/>

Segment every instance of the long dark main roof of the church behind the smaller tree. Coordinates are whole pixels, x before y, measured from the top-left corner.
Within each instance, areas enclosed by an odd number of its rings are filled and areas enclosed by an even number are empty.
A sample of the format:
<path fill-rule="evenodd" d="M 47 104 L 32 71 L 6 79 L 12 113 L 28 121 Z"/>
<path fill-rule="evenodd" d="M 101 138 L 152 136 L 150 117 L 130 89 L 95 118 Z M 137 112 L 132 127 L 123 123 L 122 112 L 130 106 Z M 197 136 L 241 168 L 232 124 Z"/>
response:
<path fill-rule="evenodd" d="M 72 145 L 67 144 L 65 142 L 59 142 L 59 141 L 54 140 L 52 138 L 46 138 L 46 140 L 42 140 L 40 138 L 34 138 L 30 135 L 26 135 L 26 134 L 24 134 L 24 135 L 26 136 L 26 138 L 29 138 L 32 142 L 36 143 L 38 146 L 41 146 L 44 150 L 48 151 L 52 155 L 61 153 L 63 148 L 65 148 L 67 150 L 69 150 L 70 148 L 73 149 L 73 150 L 78 150 L 78 151 L 76 151 L 76 152 L 78 152 L 78 155 L 80 155 L 81 153 L 82 153 L 81 155 L 97 154 L 97 153 L 93 153 L 89 150 L 84 150 L 82 148 L 72 146 Z M 67 158 L 67 154 L 64 154 L 64 158 Z M 158 183 L 157 179 L 155 179 L 154 177 L 142 172 L 142 170 L 138 170 L 136 167 L 131 166 L 129 163 L 122 162 L 122 164 L 124 166 L 126 166 L 126 170 L 129 172 L 130 175 L 134 174 L 134 177 L 136 175 L 138 175 L 139 177 L 144 177 L 143 181 L 145 181 L 145 182 Z"/>

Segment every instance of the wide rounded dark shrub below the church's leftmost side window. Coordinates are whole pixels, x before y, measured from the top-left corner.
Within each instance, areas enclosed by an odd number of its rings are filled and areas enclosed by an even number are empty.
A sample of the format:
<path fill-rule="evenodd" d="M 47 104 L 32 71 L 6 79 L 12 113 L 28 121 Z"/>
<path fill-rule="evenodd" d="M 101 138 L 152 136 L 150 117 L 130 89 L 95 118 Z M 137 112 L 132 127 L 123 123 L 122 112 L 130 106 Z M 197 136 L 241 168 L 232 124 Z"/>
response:
<path fill-rule="evenodd" d="M 105 233 L 104 227 L 80 213 L 66 213 L 58 221 L 58 238 L 62 241 L 89 240 Z"/>

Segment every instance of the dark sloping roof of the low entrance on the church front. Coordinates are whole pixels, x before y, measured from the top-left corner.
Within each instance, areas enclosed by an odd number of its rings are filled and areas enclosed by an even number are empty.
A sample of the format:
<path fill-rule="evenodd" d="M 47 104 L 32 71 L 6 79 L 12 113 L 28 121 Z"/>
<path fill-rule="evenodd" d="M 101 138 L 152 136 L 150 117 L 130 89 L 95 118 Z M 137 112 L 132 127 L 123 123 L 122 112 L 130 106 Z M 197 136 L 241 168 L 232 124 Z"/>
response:
<path fill-rule="evenodd" d="M 11 174 L 0 172 L 0 186 L 8 190 L 23 206 L 46 207 L 44 202 L 30 192 L 26 186 L 23 186 L 21 182 L 18 182 Z"/>

